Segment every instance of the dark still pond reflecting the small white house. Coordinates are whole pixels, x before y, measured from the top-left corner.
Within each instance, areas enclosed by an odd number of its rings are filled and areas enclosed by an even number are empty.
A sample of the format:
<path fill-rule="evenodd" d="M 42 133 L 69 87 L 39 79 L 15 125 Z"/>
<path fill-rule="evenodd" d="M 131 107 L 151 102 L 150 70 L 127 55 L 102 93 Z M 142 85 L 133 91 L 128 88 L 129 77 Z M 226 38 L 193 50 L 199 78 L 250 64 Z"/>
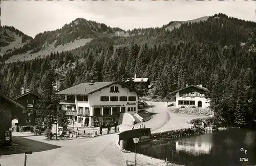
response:
<path fill-rule="evenodd" d="M 135 152 L 135 147 L 129 150 Z M 180 165 L 256 165 L 256 131 L 231 128 L 175 140 L 138 144 L 137 153 L 164 160 L 167 158 Z"/>

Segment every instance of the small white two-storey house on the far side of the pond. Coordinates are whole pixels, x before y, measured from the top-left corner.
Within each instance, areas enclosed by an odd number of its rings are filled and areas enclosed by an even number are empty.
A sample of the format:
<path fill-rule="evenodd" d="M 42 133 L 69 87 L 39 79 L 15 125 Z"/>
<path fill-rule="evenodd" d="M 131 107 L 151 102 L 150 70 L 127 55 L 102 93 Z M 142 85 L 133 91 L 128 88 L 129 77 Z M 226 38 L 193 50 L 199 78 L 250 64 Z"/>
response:
<path fill-rule="evenodd" d="M 200 85 L 186 85 L 186 87 L 170 94 L 176 94 L 176 107 L 198 107 L 208 108 L 210 101 L 205 98 L 205 93 L 209 90 Z"/>

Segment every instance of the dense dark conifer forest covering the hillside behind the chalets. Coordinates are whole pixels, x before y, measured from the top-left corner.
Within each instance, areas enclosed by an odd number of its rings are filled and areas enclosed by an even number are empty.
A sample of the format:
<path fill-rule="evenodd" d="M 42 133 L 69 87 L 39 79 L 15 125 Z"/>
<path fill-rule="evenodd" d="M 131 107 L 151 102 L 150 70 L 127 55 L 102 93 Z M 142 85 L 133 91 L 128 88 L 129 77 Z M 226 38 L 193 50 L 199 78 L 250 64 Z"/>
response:
<path fill-rule="evenodd" d="M 41 78 L 49 75 L 49 84 L 65 77 L 62 88 L 66 88 L 136 73 L 158 80 L 154 92 L 163 97 L 186 84 L 203 84 L 210 90 L 211 106 L 220 121 L 255 125 L 255 22 L 216 14 L 207 21 L 183 23 L 173 31 L 163 26 L 140 32 L 143 35 L 97 38 L 72 51 L 2 64 L 2 91 L 13 97 L 22 86 L 40 90 Z"/>

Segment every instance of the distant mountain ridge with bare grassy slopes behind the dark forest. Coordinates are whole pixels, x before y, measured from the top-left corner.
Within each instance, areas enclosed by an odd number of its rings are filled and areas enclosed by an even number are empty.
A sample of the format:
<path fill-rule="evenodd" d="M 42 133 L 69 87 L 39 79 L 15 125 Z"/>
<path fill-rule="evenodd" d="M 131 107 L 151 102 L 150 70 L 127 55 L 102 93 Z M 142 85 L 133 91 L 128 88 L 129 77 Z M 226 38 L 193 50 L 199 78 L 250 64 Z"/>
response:
<path fill-rule="evenodd" d="M 24 43 L 19 42 L 21 38 L 14 35 L 16 40 L 12 39 L 13 42 L 11 43 L 6 42 L 4 43 L 4 46 L 2 45 L 2 38 L 3 42 L 6 41 L 10 36 L 8 33 L 11 32 L 10 30 L 6 29 L 6 27 L 3 27 L 3 30 L 1 31 L 7 33 L 3 33 L 3 35 L 1 35 L 1 53 L 4 54 L 1 61 L 15 62 L 32 60 L 35 58 L 47 56 L 54 51 L 61 52 L 73 50 L 88 44 L 92 40 L 97 41 L 97 39 L 102 38 L 109 38 L 109 40 L 115 40 L 118 38 L 118 40 L 124 40 L 123 43 L 125 43 L 126 40 L 123 38 L 126 37 L 146 35 L 152 36 L 152 39 L 154 39 L 157 37 L 157 35 L 163 32 L 164 29 L 172 31 L 174 26 L 178 28 L 182 23 L 198 22 L 204 20 L 207 20 L 207 17 L 201 17 L 190 21 L 174 21 L 156 29 L 147 28 L 124 31 L 118 27 L 110 27 L 103 23 L 97 23 L 95 21 L 77 18 L 71 23 L 62 26 L 61 29 L 39 33 L 35 36 L 34 39 L 28 37 L 29 40 Z M 10 48 L 12 48 L 12 50 L 8 50 Z M 6 50 L 8 51 L 6 52 Z"/>

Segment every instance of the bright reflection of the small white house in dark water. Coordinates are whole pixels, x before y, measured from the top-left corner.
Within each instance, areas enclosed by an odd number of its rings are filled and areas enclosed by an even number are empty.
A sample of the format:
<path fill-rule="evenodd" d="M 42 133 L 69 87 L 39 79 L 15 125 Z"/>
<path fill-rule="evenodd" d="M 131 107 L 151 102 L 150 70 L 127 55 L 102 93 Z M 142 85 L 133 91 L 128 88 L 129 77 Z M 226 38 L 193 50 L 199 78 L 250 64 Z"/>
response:
<path fill-rule="evenodd" d="M 212 134 L 204 134 L 176 141 L 177 154 L 182 151 L 199 156 L 202 154 L 209 154 L 212 147 Z"/>

